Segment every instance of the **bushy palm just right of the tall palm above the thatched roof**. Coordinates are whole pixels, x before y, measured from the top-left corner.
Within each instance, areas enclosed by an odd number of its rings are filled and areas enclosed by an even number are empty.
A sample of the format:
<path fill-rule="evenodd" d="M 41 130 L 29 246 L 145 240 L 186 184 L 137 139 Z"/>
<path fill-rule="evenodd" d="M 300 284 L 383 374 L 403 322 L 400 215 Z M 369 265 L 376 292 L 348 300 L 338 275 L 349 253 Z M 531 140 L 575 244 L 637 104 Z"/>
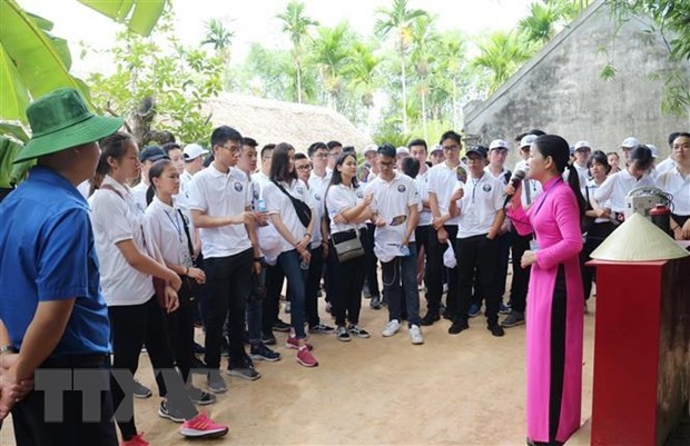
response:
<path fill-rule="evenodd" d="M 310 59 L 321 67 L 324 87 L 328 93 L 328 106 L 337 109 L 338 98 L 343 88 L 341 70 L 349 53 L 353 34 L 347 22 L 335 28 L 319 28 L 312 41 Z"/>

